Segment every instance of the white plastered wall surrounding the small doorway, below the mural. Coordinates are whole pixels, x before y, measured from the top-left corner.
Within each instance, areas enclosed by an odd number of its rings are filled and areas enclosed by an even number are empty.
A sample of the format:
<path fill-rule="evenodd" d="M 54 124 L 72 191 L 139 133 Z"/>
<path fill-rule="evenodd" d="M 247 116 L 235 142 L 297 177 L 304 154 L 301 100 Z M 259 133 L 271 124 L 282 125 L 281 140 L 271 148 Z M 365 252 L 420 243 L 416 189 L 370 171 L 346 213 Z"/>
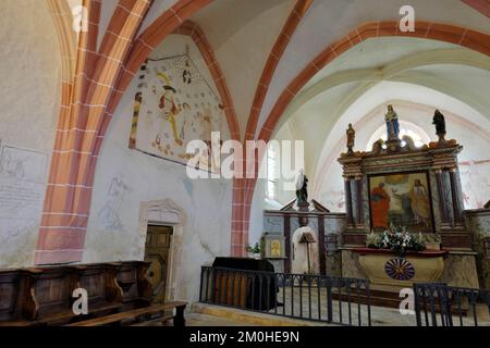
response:
<path fill-rule="evenodd" d="M 212 80 L 186 36 L 170 36 L 151 58 L 182 54 L 186 45 L 199 72 Z M 137 79 L 122 98 L 103 140 L 83 262 L 143 260 L 146 236 L 139 233 L 140 204 L 170 198 L 187 216 L 175 250 L 174 297 L 193 301 L 198 296 L 200 266 L 230 253 L 232 181 L 189 179 L 185 165 L 130 149 L 136 87 Z"/>

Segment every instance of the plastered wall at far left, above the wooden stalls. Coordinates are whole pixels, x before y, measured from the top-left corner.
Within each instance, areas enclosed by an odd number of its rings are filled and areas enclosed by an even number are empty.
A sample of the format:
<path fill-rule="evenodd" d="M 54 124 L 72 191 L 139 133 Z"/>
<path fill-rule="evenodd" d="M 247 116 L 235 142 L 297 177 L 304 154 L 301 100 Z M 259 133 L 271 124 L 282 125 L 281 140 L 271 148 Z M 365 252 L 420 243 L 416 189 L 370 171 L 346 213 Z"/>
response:
<path fill-rule="evenodd" d="M 0 1 L 0 268 L 34 261 L 61 59 L 45 1 Z"/>

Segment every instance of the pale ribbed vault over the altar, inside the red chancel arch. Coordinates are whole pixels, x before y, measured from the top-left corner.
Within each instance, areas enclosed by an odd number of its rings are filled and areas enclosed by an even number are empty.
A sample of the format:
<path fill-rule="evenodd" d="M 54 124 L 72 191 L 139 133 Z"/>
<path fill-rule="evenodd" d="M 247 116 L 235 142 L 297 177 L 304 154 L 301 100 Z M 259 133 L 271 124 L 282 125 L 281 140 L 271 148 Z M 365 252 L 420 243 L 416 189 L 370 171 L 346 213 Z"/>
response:
<path fill-rule="evenodd" d="M 321 163 L 332 160 L 331 149 L 348 123 L 391 100 L 449 110 L 490 130 L 489 88 L 490 59 L 485 54 L 428 39 L 368 39 L 319 71 L 275 130 L 295 128 L 305 140 L 306 171 L 316 177 Z"/>

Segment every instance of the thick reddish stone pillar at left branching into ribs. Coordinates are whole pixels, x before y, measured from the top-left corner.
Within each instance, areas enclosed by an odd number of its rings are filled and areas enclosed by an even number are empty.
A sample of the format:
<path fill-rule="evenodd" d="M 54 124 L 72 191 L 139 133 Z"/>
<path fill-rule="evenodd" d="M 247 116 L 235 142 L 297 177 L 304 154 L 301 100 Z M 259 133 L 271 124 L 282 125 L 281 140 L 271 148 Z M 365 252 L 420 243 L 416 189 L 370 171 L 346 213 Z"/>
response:
<path fill-rule="evenodd" d="M 98 153 L 107 126 L 152 48 L 211 0 L 179 0 L 137 38 L 150 1 L 120 1 L 97 51 L 100 2 L 87 1 L 89 26 L 78 39 L 75 78 L 62 90 L 35 263 L 79 262 Z"/>

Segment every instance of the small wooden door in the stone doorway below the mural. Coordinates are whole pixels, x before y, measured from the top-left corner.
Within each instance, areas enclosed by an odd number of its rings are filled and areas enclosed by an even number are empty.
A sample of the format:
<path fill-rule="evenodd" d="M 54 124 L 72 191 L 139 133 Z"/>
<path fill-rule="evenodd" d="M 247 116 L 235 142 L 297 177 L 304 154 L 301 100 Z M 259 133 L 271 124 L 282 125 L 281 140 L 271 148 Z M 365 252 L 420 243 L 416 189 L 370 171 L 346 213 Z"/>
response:
<path fill-rule="evenodd" d="M 172 243 L 171 226 L 148 225 L 145 245 L 145 261 L 150 262 L 146 273 L 151 283 L 154 302 L 164 302 L 167 289 L 167 271 Z"/>

